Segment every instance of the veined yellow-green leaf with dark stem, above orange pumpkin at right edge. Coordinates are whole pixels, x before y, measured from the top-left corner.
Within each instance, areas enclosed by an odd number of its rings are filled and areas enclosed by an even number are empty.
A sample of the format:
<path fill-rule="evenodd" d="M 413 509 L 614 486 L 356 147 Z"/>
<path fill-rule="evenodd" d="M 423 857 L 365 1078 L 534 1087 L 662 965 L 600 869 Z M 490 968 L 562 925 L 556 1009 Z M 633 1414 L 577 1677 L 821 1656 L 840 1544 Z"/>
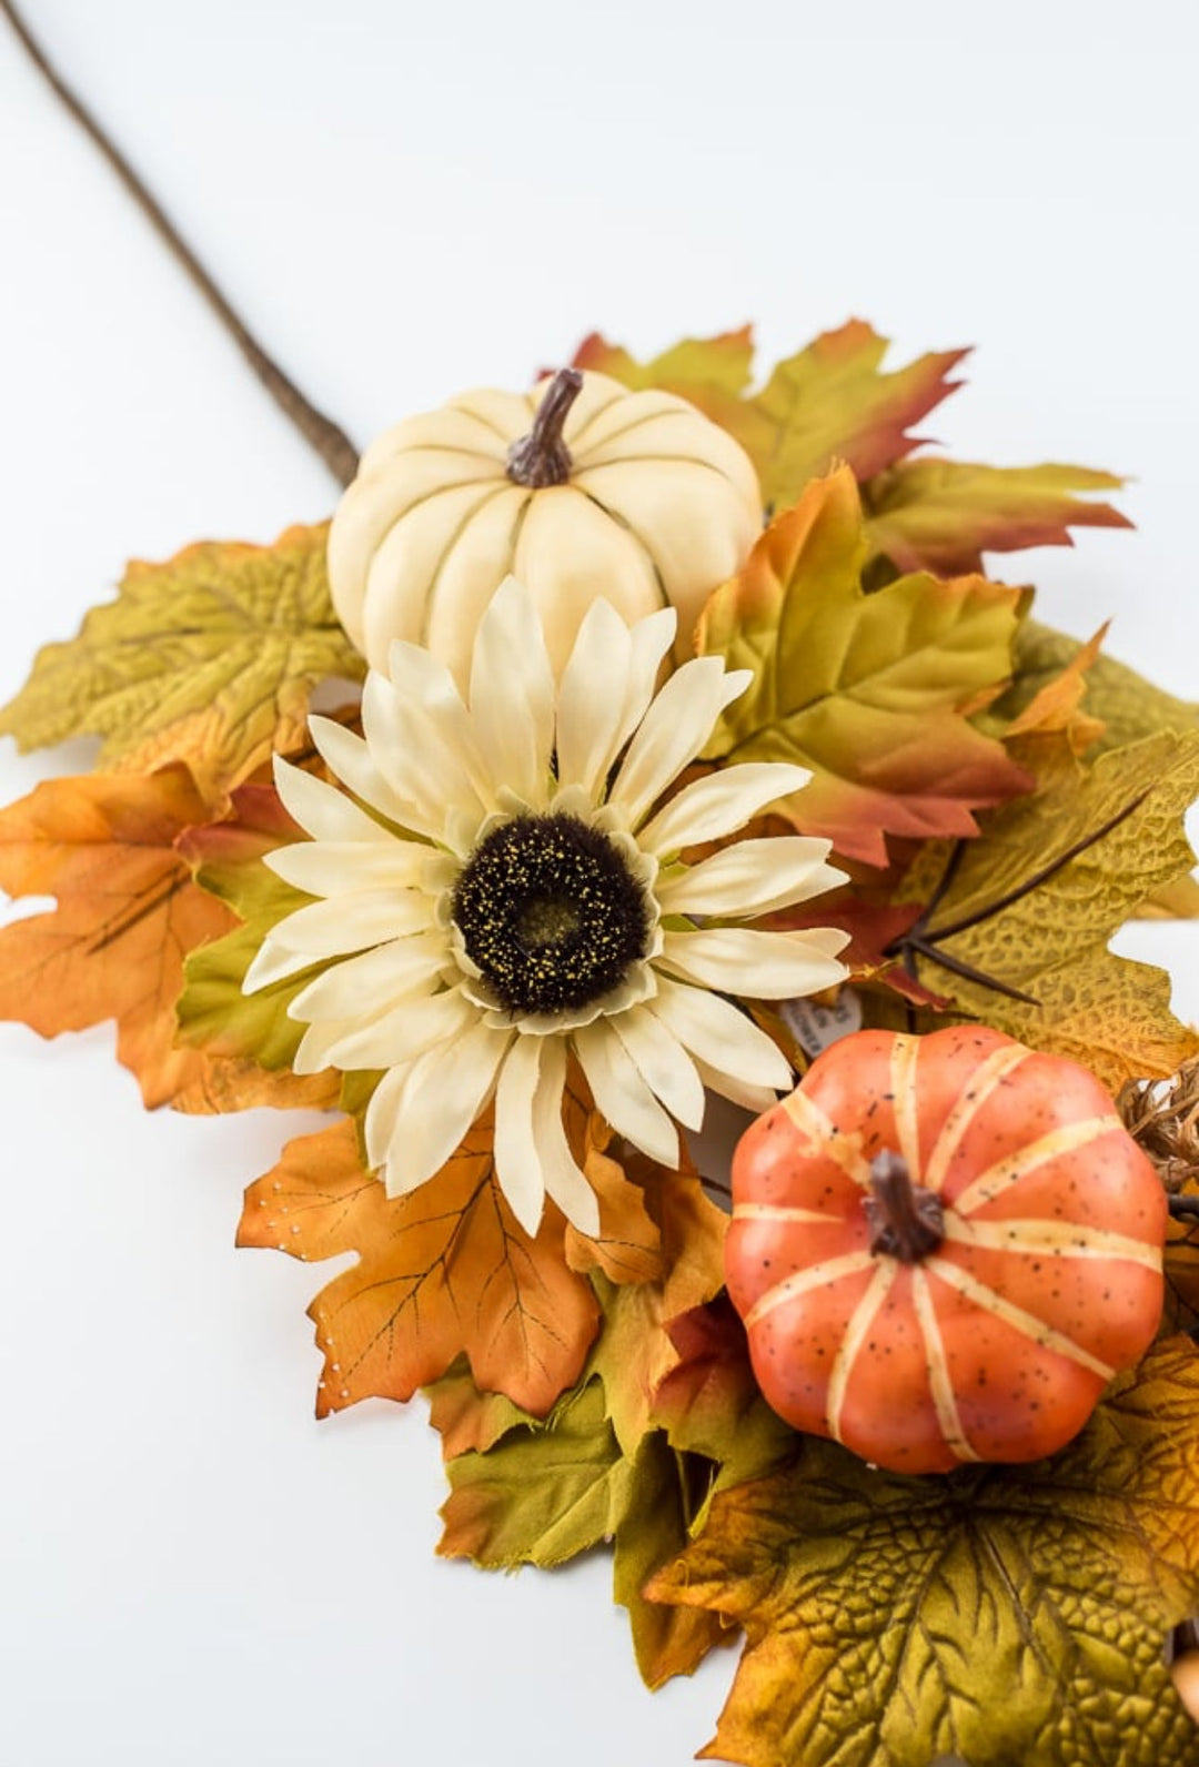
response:
<path fill-rule="evenodd" d="M 900 944 L 958 1014 L 1082 1062 L 1111 1092 L 1172 1074 L 1199 1035 L 1169 1011 L 1169 975 L 1107 942 L 1190 869 L 1181 818 L 1195 793 L 1199 732 L 1146 737 L 1089 770 L 1061 739 L 1035 795 L 994 811 L 980 839 L 921 852 L 898 894 L 936 908 Z"/>

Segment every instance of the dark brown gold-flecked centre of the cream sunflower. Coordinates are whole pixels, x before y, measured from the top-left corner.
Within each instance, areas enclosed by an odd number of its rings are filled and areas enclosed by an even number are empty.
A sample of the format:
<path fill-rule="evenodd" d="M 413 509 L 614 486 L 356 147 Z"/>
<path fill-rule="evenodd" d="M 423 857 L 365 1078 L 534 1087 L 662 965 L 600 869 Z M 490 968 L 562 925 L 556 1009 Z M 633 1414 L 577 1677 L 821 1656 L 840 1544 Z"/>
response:
<path fill-rule="evenodd" d="M 509 1012 L 591 1005 L 649 945 L 645 898 L 624 855 L 566 813 L 493 829 L 458 878 L 453 917 Z"/>

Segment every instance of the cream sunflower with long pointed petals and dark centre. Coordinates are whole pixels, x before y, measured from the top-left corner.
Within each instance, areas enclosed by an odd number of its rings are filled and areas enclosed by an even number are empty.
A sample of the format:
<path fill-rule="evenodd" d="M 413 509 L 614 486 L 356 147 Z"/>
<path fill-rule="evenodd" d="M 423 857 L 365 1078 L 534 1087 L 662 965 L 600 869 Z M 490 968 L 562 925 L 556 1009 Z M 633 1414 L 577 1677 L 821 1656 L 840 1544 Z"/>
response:
<path fill-rule="evenodd" d="M 674 610 L 628 627 L 587 611 L 561 684 L 538 611 L 508 580 L 477 631 L 469 696 L 417 645 L 371 671 L 364 739 L 313 717 L 347 792 L 279 760 L 311 836 L 267 855 L 320 898 L 279 921 L 246 991 L 320 974 L 290 1005 L 297 1073 L 384 1069 L 366 1147 L 389 1194 L 424 1184 L 495 1103 L 495 1173 L 534 1233 L 545 1196 L 584 1233 L 596 1196 L 562 1126 L 568 1058 L 612 1129 L 676 1166 L 704 1088 L 764 1110 L 787 1060 L 727 995 L 775 1000 L 840 981 L 845 933 L 743 922 L 844 882 L 829 843 L 725 841 L 803 786 L 783 763 L 734 765 L 663 800 L 750 682 L 718 657 L 654 682 Z M 352 795 L 347 795 L 352 793 Z M 357 800 L 357 802 L 355 802 Z"/>

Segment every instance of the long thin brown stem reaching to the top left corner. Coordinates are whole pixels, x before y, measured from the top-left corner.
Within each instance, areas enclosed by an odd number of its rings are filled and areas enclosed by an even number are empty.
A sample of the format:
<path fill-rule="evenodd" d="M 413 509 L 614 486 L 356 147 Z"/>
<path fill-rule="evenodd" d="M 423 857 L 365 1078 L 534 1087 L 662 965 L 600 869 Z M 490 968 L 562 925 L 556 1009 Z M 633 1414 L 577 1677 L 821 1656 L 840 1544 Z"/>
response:
<path fill-rule="evenodd" d="M 251 369 L 283 415 L 295 424 L 304 440 L 317 451 L 317 454 L 320 454 L 334 479 L 340 484 L 348 484 L 357 472 L 357 449 L 347 433 L 340 429 L 332 419 L 325 417 L 324 412 L 318 412 L 317 406 L 304 398 L 295 382 L 288 380 L 279 364 L 267 355 L 241 315 L 230 306 L 225 293 L 200 263 L 195 251 L 175 230 L 163 207 L 150 194 L 120 148 L 110 140 L 83 101 L 62 80 L 41 42 L 34 37 L 34 32 L 25 23 L 16 5 L 12 5 L 12 0 L 0 0 L 0 12 L 7 18 L 18 42 L 37 71 L 44 76 L 64 110 L 74 117 L 78 125 L 90 138 L 92 145 L 99 148 L 175 262 L 182 267 L 189 281 L 200 290 L 209 307 L 216 313 L 218 320 L 249 362 Z"/>

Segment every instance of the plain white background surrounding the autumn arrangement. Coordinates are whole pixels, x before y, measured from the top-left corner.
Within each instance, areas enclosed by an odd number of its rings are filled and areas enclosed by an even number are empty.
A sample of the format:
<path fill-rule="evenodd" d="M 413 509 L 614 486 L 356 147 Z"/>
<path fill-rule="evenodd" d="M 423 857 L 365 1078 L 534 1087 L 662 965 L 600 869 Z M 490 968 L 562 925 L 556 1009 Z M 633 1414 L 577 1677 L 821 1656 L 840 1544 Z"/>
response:
<path fill-rule="evenodd" d="M 974 341 L 939 440 L 1139 481 L 1135 535 L 1019 562 L 1042 617 L 1195 693 L 1190 0 L 28 9 L 355 440 L 591 327 Z M 0 389 L 5 698 L 131 553 L 332 504 L 2 27 Z M 1194 928 L 1135 949 L 1199 1012 Z M 143 1115 L 110 1028 L 0 1060 L 4 1767 L 683 1767 L 732 1657 L 651 1698 L 605 1560 L 433 1560 L 419 1407 L 313 1422 L 318 1272 L 232 1246 L 290 1126 Z"/>

